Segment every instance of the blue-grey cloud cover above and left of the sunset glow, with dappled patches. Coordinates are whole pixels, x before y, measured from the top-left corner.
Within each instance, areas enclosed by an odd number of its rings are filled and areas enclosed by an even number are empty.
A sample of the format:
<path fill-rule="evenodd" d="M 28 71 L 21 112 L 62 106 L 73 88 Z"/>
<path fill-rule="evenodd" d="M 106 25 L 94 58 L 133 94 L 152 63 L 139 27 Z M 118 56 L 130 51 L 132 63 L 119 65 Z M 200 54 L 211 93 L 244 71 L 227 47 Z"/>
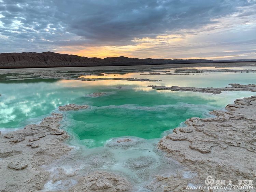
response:
<path fill-rule="evenodd" d="M 0 0 L 0 51 L 68 45 L 128 45 L 217 22 L 254 0 Z M 1 36 L 0 36 L 1 38 Z M 164 43 L 164 42 L 163 42 Z M 19 46 L 19 47 L 16 47 Z M 40 48 L 41 47 L 41 48 Z M 18 50 L 19 50 L 18 49 Z"/>

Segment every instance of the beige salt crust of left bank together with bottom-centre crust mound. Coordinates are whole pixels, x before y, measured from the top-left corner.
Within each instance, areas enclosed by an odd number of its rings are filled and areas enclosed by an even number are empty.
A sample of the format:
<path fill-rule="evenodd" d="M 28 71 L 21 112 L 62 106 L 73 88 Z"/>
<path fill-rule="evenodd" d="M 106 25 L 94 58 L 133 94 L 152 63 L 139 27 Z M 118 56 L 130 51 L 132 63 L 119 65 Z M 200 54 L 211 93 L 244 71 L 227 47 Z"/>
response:
<path fill-rule="evenodd" d="M 44 167 L 65 159 L 72 150 L 65 144 L 69 135 L 59 129 L 62 118 L 62 114 L 53 113 L 40 124 L 0 134 L 0 191 L 39 191 L 45 184 L 47 187 L 49 180 L 58 183 Z M 130 191 L 132 188 L 126 179 L 107 172 L 83 176 L 63 173 L 56 177 L 67 181 L 61 191 Z"/>

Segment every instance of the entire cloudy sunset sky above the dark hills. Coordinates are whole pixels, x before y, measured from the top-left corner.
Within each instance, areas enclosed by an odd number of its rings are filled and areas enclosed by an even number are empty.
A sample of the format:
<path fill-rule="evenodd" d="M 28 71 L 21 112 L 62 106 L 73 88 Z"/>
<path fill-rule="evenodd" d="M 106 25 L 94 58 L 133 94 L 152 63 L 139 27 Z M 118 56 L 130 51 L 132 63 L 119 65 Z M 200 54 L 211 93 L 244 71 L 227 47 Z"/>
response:
<path fill-rule="evenodd" d="M 256 59 L 256 0 L 0 0 L 0 53 Z"/>

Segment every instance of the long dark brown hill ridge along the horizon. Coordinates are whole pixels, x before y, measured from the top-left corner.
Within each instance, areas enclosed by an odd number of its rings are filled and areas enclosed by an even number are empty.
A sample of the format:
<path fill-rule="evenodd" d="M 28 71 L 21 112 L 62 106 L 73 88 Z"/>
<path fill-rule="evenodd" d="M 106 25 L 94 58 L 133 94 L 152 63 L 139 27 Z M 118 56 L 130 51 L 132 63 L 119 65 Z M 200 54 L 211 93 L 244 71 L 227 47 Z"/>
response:
<path fill-rule="evenodd" d="M 2 53 L 0 69 L 4 68 L 42 68 L 42 67 L 86 67 L 86 66 L 117 66 L 117 65 L 148 65 L 148 64 L 180 64 L 180 63 L 215 63 L 244 62 L 243 60 L 213 61 L 207 59 L 138 59 L 130 57 L 107 57 L 104 59 L 81 57 L 77 55 L 43 53 Z M 256 60 L 250 60 L 256 61 Z"/>

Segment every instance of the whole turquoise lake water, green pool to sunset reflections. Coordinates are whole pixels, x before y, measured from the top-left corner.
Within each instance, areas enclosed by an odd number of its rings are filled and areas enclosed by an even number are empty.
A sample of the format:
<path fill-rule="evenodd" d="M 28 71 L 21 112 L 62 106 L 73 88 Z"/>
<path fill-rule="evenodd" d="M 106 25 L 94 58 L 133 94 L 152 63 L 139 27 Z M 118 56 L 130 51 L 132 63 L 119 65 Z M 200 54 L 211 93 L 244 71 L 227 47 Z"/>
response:
<path fill-rule="evenodd" d="M 254 73 L 170 76 L 140 74 L 142 73 L 113 73 L 108 76 L 162 81 L 1 80 L 0 129 L 17 129 L 29 123 L 38 123 L 52 112 L 58 112 L 58 106 L 75 103 L 90 107 L 63 112 L 65 116 L 62 129 L 73 135 L 78 143 L 89 148 L 103 146 L 113 137 L 159 138 L 165 131 L 178 127 L 187 118 L 208 117 L 209 111 L 221 109 L 233 100 L 253 93 L 243 91 L 213 95 L 153 90 L 147 85 L 223 87 L 228 86 L 228 83 L 256 83 Z M 117 86 L 123 88 L 118 89 Z M 93 92 L 106 92 L 106 95 L 89 97 Z"/>

